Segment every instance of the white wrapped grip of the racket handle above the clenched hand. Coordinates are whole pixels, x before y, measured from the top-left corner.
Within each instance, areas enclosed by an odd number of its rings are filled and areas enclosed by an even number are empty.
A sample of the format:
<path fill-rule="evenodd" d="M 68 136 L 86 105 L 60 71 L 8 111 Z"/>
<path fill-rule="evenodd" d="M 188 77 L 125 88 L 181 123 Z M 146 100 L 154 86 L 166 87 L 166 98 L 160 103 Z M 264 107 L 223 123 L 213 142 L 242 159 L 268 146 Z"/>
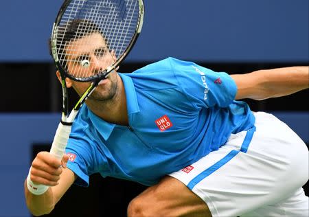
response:
<path fill-rule="evenodd" d="M 70 133 L 71 125 L 64 125 L 60 122 L 54 136 L 52 148 L 50 149 L 50 153 L 57 159 L 62 159 L 65 154 L 65 147 L 67 146 Z"/>

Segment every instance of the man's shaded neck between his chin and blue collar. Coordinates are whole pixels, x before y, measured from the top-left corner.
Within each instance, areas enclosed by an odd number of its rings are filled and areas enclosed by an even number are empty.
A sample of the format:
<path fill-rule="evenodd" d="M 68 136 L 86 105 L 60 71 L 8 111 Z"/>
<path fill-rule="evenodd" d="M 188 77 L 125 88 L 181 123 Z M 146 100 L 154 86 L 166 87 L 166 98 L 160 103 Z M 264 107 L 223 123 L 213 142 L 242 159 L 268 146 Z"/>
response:
<path fill-rule="evenodd" d="M 128 126 L 128 112 L 126 109 L 126 93 L 122 79 L 117 76 L 117 91 L 112 99 L 98 101 L 88 99 L 89 109 L 106 122 Z"/>

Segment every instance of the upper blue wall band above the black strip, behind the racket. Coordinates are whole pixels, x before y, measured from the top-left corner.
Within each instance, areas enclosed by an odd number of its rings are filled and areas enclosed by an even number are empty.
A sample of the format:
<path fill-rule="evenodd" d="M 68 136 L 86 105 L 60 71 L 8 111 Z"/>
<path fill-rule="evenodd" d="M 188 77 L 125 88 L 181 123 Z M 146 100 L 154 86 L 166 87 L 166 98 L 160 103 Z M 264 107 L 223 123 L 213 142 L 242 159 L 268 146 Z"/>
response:
<path fill-rule="evenodd" d="M 47 39 L 60 0 L 1 1 L 0 61 L 51 61 Z M 18 7 L 16 7 L 18 5 Z M 308 60 L 308 0 L 146 0 L 127 61 Z"/>

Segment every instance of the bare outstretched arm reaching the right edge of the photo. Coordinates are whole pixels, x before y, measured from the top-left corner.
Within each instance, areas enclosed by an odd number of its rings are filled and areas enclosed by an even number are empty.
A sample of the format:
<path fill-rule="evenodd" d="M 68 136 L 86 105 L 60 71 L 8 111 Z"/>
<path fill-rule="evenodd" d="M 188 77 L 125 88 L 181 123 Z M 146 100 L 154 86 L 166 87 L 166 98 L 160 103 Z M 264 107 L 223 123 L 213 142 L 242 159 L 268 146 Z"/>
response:
<path fill-rule="evenodd" d="M 236 99 L 264 100 L 290 95 L 309 87 L 309 67 L 285 67 L 232 75 L 238 86 Z"/>

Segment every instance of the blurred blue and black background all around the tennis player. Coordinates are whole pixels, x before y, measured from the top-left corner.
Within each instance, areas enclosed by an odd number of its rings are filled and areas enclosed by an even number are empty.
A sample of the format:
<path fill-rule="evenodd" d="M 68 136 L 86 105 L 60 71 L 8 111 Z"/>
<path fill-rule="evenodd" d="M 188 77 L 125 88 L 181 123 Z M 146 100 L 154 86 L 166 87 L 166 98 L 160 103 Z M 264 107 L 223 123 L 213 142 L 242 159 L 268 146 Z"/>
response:
<path fill-rule="evenodd" d="M 30 216 L 23 179 L 36 153 L 49 150 L 60 119 L 62 93 L 47 41 L 61 3 L 2 2 L 0 216 Z M 168 56 L 228 73 L 308 65 L 308 0 L 146 0 L 145 6 L 141 36 L 120 72 Z M 75 102 L 75 93 L 70 95 Z M 277 115 L 308 144 L 308 99 L 306 90 L 245 101 L 253 111 Z M 90 183 L 71 187 L 49 216 L 126 216 L 129 201 L 145 189 L 100 175 Z"/>

